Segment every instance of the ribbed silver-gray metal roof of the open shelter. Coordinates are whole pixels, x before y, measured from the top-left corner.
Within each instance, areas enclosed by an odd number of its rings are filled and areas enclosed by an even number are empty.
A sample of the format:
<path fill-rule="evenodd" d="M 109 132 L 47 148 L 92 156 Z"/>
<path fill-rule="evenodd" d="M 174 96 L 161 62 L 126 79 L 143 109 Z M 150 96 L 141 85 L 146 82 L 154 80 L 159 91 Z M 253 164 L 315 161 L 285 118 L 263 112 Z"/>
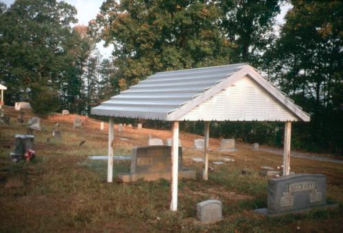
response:
<path fill-rule="evenodd" d="M 200 96 L 220 88 L 243 69 L 252 69 L 246 63 L 211 66 L 198 69 L 158 72 L 130 89 L 92 108 L 91 113 L 104 116 L 123 116 L 141 119 L 176 121 L 187 106 L 200 104 Z M 238 72 L 238 73 L 237 73 Z M 236 77 L 237 78 L 237 77 Z M 215 94 L 215 93 L 214 93 Z M 205 95 L 204 95 L 205 96 Z M 193 103 L 197 101 L 197 103 Z M 179 111 L 179 112 L 178 112 Z M 184 112 L 185 113 L 185 112 Z M 184 114 L 183 113 L 183 114 Z"/>

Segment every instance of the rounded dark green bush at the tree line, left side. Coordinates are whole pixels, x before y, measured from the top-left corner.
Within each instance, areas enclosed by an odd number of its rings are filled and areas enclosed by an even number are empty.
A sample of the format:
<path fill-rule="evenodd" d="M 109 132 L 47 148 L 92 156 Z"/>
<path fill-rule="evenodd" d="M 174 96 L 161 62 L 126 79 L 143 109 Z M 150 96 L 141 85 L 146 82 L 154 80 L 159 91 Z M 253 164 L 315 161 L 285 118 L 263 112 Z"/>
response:
<path fill-rule="evenodd" d="M 32 85 L 32 101 L 31 106 L 33 112 L 40 115 L 47 115 L 55 112 L 60 108 L 58 102 L 58 93 L 56 90 L 39 84 Z"/>

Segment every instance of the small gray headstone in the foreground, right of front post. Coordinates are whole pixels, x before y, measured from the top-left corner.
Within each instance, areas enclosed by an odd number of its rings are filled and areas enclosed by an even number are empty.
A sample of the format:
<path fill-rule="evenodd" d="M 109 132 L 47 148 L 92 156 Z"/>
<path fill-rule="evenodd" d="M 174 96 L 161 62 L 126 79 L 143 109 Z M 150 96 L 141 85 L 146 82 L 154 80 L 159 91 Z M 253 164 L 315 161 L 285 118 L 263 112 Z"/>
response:
<path fill-rule="evenodd" d="M 196 205 L 196 217 L 202 223 L 211 223 L 221 220 L 222 217 L 222 201 L 207 200 Z"/>

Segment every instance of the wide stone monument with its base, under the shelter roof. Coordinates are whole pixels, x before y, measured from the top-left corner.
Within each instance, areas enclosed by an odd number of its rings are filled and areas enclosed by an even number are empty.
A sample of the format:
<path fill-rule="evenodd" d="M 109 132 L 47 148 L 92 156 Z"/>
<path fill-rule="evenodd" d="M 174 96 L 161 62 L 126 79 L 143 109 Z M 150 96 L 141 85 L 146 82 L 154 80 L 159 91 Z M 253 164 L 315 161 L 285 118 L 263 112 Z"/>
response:
<path fill-rule="evenodd" d="M 178 149 L 178 176 L 188 179 L 196 178 L 196 171 L 182 168 L 182 147 Z M 119 180 L 135 182 L 137 180 L 170 180 L 171 147 L 150 146 L 132 148 L 130 173 L 121 173 Z"/>

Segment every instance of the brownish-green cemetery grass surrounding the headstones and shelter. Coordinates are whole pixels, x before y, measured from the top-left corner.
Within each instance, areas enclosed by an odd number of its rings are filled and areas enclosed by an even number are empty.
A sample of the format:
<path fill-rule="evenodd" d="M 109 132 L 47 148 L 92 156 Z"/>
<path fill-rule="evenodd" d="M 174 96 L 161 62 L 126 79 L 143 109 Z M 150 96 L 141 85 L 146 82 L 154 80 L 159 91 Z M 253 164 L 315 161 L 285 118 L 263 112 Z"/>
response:
<path fill-rule="evenodd" d="M 25 111 L 27 122 L 32 114 Z M 35 160 L 12 163 L 8 155 L 14 134 L 25 133 L 27 125 L 15 122 L 14 109 L 5 108 L 5 113 L 12 116 L 12 123 L 0 126 L 1 232 L 338 232 L 343 228 L 342 164 L 291 159 L 292 171 L 327 175 L 328 197 L 340 203 L 340 208 L 268 218 L 252 211 L 267 206 L 268 179 L 259 175 L 259 167 L 279 166 L 281 156 L 241 145 L 234 154 L 217 152 L 219 140 L 211 139 L 210 162 L 222 157 L 235 162 L 210 163 L 213 170 L 204 182 L 201 164 L 191 160 L 202 155 L 191 149 L 193 139 L 201 136 L 181 132 L 184 166 L 196 169 L 197 178 L 180 180 L 179 210 L 170 212 L 168 181 L 108 184 L 106 162 L 88 160 L 88 156 L 107 153 L 107 132 L 99 131 L 99 121 L 84 119 L 82 129 L 73 129 L 74 115 L 43 119 L 43 130 L 34 132 Z M 51 138 L 55 121 L 62 123 L 58 127 L 61 140 Z M 171 135 L 150 129 L 117 132 L 117 128 L 115 134 L 116 155 L 130 155 L 133 145 L 146 145 L 149 134 L 164 140 Z M 242 175 L 241 169 L 251 174 Z M 115 174 L 129 170 L 128 161 L 115 162 Z M 206 199 L 223 202 L 222 221 L 209 225 L 196 221 L 196 204 Z"/>

